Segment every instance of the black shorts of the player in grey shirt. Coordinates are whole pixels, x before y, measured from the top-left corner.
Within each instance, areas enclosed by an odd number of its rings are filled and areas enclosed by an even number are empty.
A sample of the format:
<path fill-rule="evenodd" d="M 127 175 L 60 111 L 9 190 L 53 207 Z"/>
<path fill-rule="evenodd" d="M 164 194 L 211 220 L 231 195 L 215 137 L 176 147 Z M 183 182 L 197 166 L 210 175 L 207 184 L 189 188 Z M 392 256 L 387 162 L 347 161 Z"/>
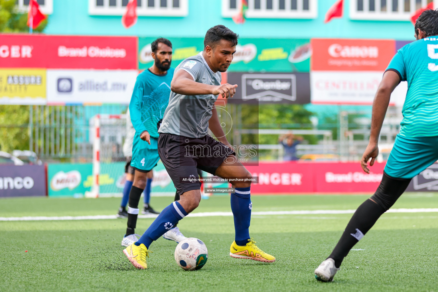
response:
<path fill-rule="evenodd" d="M 165 133 L 160 133 L 158 137 L 158 154 L 178 194 L 200 189 L 198 169 L 215 175 L 216 169 L 228 156 L 236 155 L 209 135 L 188 138 Z"/>

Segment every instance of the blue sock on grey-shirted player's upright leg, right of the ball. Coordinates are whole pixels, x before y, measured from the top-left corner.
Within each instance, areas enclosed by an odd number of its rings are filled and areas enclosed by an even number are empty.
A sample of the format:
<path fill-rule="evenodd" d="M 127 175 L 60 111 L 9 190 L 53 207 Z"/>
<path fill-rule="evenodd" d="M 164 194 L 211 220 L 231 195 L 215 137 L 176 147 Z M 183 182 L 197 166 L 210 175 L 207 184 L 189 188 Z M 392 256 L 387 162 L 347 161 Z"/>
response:
<path fill-rule="evenodd" d="M 231 193 L 231 211 L 234 216 L 236 244 L 245 246 L 248 243 L 249 225 L 251 222 L 251 187 L 237 187 L 236 193 Z"/>

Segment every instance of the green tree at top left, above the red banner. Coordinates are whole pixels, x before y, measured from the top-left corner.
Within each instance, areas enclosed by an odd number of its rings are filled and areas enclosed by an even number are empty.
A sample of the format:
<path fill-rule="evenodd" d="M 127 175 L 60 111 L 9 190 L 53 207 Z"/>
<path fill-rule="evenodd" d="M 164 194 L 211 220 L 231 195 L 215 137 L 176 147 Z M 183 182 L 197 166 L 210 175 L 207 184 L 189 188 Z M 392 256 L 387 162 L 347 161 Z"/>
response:
<path fill-rule="evenodd" d="M 16 0 L 0 0 L 0 32 L 28 32 L 27 13 L 21 13 Z M 46 28 L 47 19 L 43 20 L 34 32 L 42 32 Z"/>

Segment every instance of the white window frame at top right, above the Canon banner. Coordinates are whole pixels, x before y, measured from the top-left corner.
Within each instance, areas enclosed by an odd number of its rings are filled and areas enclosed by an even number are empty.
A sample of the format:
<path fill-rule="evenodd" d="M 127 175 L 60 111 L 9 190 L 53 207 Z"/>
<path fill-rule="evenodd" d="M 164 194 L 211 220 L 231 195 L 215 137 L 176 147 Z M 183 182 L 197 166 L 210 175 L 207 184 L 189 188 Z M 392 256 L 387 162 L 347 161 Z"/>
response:
<path fill-rule="evenodd" d="M 357 0 L 350 0 L 350 19 L 353 20 L 379 20 L 379 21 L 410 21 L 416 11 L 416 1 L 410 0 L 410 11 L 404 11 L 404 0 L 398 0 L 398 11 L 392 11 L 392 0 L 386 0 L 386 11 L 380 11 L 381 0 L 375 0 L 375 11 L 368 11 L 369 0 L 364 0 L 364 11 L 357 11 Z M 434 7 L 438 0 L 433 0 Z M 427 5 L 427 0 L 421 0 L 421 7 Z"/>

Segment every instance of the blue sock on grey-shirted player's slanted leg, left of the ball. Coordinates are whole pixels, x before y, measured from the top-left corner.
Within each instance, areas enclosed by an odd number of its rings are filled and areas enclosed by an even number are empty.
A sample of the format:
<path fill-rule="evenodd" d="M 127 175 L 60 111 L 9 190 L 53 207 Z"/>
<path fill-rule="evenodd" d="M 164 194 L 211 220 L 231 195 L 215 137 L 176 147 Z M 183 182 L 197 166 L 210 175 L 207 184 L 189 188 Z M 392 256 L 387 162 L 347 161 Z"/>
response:
<path fill-rule="evenodd" d="M 143 243 L 147 248 L 151 245 L 152 241 L 159 239 L 164 233 L 173 228 L 179 220 L 186 217 L 188 214 L 184 208 L 178 202 L 173 202 L 155 219 L 149 226 L 148 230 L 143 233 L 140 239 L 135 243 L 139 246 Z"/>

